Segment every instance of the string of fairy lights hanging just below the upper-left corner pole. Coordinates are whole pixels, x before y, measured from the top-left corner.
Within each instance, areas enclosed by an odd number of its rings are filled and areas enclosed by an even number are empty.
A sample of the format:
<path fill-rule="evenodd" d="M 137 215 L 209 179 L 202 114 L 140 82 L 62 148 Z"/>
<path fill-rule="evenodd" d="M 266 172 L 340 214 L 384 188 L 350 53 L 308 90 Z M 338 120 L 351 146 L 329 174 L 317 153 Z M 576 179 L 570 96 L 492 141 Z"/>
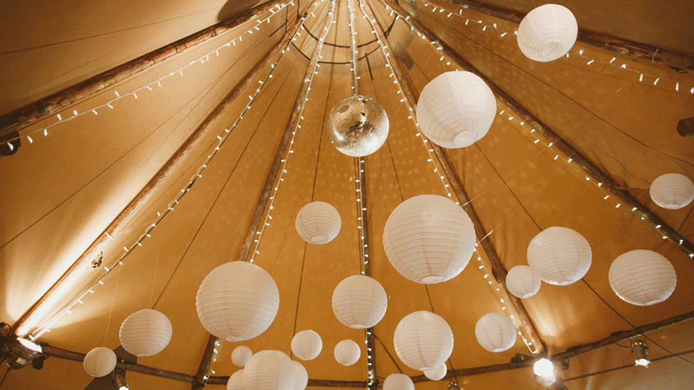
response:
<path fill-rule="evenodd" d="M 184 74 L 183 71 L 185 71 L 185 69 L 192 67 L 193 65 L 198 64 L 198 63 L 199 64 L 205 64 L 205 62 L 209 62 L 210 61 L 210 55 L 214 55 L 215 57 L 219 57 L 219 51 L 223 50 L 223 48 L 230 47 L 232 45 L 236 46 L 237 41 L 239 43 L 243 42 L 244 35 L 246 35 L 246 34 L 253 35 L 254 30 L 260 31 L 260 26 L 263 23 L 269 24 L 271 17 L 278 14 L 280 12 L 280 10 L 284 9 L 285 7 L 289 6 L 290 4 L 291 4 L 291 6 L 294 6 L 294 0 L 287 1 L 286 3 L 283 3 L 283 4 L 278 4 L 277 6 L 271 8 L 270 10 L 267 11 L 270 13 L 270 15 L 268 17 L 266 17 L 265 19 L 256 19 L 257 23 L 255 24 L 255 26 L 252 26 L 248 30 L 244 30 L 243 33 L 241 33 L 240 35 L 237 35 L 237 37 L 235 37 L 234 39 L 231 39 L 230 41 L 226 42 L 225 44 L 222 44 L 221 46 L 219 46 L 218 48 L 215 48 L 214 50 L 210 51 L 209 53 L 204 54 L 201 57 L 198 57 L 196 60 L 192 60 L 191 62 L 188 62 L 187 64 L 183 65 L 183 67 L 180 67 L 174 71 L 171 71 L 168 74 L 162 76 L 161 78 L 158 78 L 157 80 L 149 82 L 146 85 L 143 85 L 142 87 L 138 87 L 136 89 L 133 89 L 132 91 L 129 91 L 126 94 L 119 94 L 118 91 L 114 91 L 114 94 L 116 96 L 115 98 L 113 98 L 113 99 L 109 100 L 108 102 L 103 103 L 101 105 L 96 105 L 90 109 L 85 109 L 83 112 L 78 112 L 76 109 L 74 109 L 72 111 L 72 115 L 71 116 L 65 116 L 65 118 L 62 117 L 63 114 L 65 114 L 65 112 L 60 112 L 60 113 L 56 114 L 56 118 L 58 118 L 58 121 L 51 123 L 50 125 L 47 125 L 45 127 L 40 127 L 39 129 L 33 130 L 33 131 L 28 132 L 26 134 L 20 134 L 19 136 L 8 140 L 8 142 L 7 142 L 8 147 L 10 148 L 10 150 L 14 150 L 15 146 L 12 145 L 11 141 L 21 139 L 22 137 L 26 137 L 26 139 L 27 139 L 27 141 L 29 141 L 29 143 L 33 143 L 34 140 L 31 136 L 35 133 L 42 132 L 44 136 L 48 136 L 48 130 L 51 129 L 52 127 L 60 125 L 61 123 L 66 123 L 66 122 L 72 121 L 76 118 L 80 118 L 81 116 L 85 116 L 85 115 L 98 115 L 99 109 L 103 109 L 103 108 L 115 109 L 115 107 L 117 107 L 117 106 L 115 106 L 114 103 L 116 103 L 118 100 L 121 100 L 121 99 L 126 98 L 128 96 L 133 96 L 133 98 L 138 99 L 139 98 L 139 96 L 137 95 L 138 93 L 140 95 L 142 95 L 142 92 L 145 90 L 146 91 L 152 91 L 153 87 L 162 87 L 162 81 L 166 80 L 167 78 L 171 78 L 171 77 L 174 77 L 176 75 L 183 76 L 183 74 Z"/>

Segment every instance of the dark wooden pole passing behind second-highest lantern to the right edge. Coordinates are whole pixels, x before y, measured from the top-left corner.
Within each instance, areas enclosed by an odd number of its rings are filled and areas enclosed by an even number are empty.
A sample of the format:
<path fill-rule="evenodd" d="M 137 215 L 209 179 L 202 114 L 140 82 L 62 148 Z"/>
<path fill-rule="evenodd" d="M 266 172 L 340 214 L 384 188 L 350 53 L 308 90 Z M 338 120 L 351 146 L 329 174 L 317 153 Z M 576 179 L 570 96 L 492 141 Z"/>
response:
<path fill-rule="evenodd" d="M 407 15 L 407 12 L 403 10 L 402 7 L 398 6 L 398 3 L 396 3 L 394 0 L 380 0 L 382 3 L 384 3 L 386 6 L 391 8 L 396 14 L 398 14 L 400 17 L 403 19 L 405 17 L 409 17 Z M 423 33 L 427 37 L 438 37 L 438 35 L 434 34 L 431 30 L 423 26 L 423 24 L 420 23 L 417 19 L 414 17 L 409 17 L 408 22 L 414 26 L 416 30 L 419 30 L 420 33 Z M 512 109 L 518 116 L 521 116 L 523 120 L 528 124 L 531 125 L 535 130 L 540 132 L 543 136 L 545 136 L 548 141 L 556 145 L 557 149 L 561 150 L 566 156 L 570 156 L 571 159 L 573 159 L 573 162 L 577 164 L 582 170 L 585 172 L 586 175 L 589 175 L 592 177 L 595 181 L 598 183 L 602 183 L 602 187 L 607 190 L 607 192 L 611 193 L 614 197 L 616 197 L 618 200 L 620 200 L 625 206 L 628 206 L 629 209 L 634 209 L 634 213 L 638 216 L 643 218 L 643 220 L 646 220 L 650 222 L 654 227 L 658 227 L 659 233 L 663 233 L 663 236 L 666 236 L 669 238 L 672 242 L 677 244 L 677 247 L 684 251 L 685 254 L 687 254 L 690 258 L 694 258 L 694 245 L 684 238 L 681 234 L 679 234 L 675 229 L 670 227 L 670 225 L 666 224 L 663 220 L 661 220 L 655 213 L 650 211 L 648 207 L 644 206 L 641 204 L 641 202 L 638 202 L 636 198 L 628 193 L 625 190 L 618 190 L 617 187 L 621 186 L 618 181 L 613 179 L 607 172 L 604 172 L 602 169 L 600 169 L 591 159 L 586 157 L 585 154 L 577 150 L 573 145 L 571 145 L 568 141 L 566 141 L 564 138 L 559 136 L 557 132 L 552 130 L 548 125 L 545 125 L 542 121 L 539 120 L 539 118 L 536 118 L 528 109 L 523 107 L 521 103 L 518 103 L 514 98 L 511 98 L 509 94 L 506 93 L 501 87 L 496 85 L 492 80 L 490 80 L 488 77 L 486 77 L 482 72 L 478 71 L 475 67 L 473 67 L 472 64 L 464 60 L 463 57 L 461 57 L 458 53 L 456 53 L 446 42 L 443 42 L 439 40 L 439 44 L 441 45 L 441 50 L 443 51 L 443 54 L 448 56 L 453 62 L 457 64 L 458 67 L 464 69 L 465 71 L 469 71 L 471 73 L 475 73 L 477 76 L 480 76 L 484 82 L 486 82 L 486 85 L 489 85 L 491 90 L 494 92 L 496 95 L 496 98 L 501 100 L 502 103 L 507 105 L 510 109 Z"/>

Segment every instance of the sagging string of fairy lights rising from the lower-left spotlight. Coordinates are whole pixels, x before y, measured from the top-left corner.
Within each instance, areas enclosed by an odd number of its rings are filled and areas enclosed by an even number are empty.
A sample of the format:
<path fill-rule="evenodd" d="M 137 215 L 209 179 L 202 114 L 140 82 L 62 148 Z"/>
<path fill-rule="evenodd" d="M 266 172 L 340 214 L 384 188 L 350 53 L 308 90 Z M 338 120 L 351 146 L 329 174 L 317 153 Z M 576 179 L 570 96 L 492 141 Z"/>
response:
<path fill-rule="evenodd" d="M 324 1 L 324 0 L 321 0 L 319 3 L 322 3 L 323 1 Z M 316 3 L 316 6 L 317 6 L 319 3 Z M 304 23 L 304 21 L 305 21 L 306 19 L 307 19 L 307 15 L 302 16 L 302 17 L 301 17 L 301 21 L 300 21 L 299 23 L 300 23 L 301 25 L 303 25 L 303 23 Z M 289 44 L 291 44 L 291 40 L 289 41 Z M 45 321 L 45 323 L 44 323 L 43 325 L 40 325 L 40 326 L 38 326 L 37 328 L 35 328 L 35 330 L 33 330 L 33 332 L 31 333 L 31 335 L 29 335 L 29 337 L 30 337 L 31 339 L 37 339 L 37 338 L 40 337 L 43 333 L 45 333 L 45 332 L 50 332 L 50 331 L 51 331 L 50 328 L 51 328 L 51 326 L 53 326 L 54 323 L 56 323 L 57 321 L 59 321 L 65 314 L 72 314 L 71 309 L 74 308 L 74 306 L 77 305 L 77 304 L 83 304 L 83 299 L 84 299 L 85 296 L 87 296 L 87 294 L 94 294 L 94 288 L 95 288 L 97 285 L 103 285 L 103 284 L 104 284 L 102 279 L 103 279 L 106 275 L 108 275 L 110 272 L 112 272 L 116 267 L 124 265 L 123 260 L 126 258 L 126 256 L 128 256 L 130 253 L 132 253 L 133 249 L 135 249 L 135 248 L 137 248 L 137 247 L 142 247 L 142 242 L 143 242 L 144 240 L 146 240 L 146 238 L 150 238 L 150 237 L 151 237 L 151 231 L 152 231 L 153 229 L 155 229 L 155 227 L 156 227 L 156 226 L 157 226 L 157 225 L 158 225 L 169 213 L 171 213 L 172 211 L 174 211 L 174 207 L 179 203 L 179 201 L 181 200 L 181 198 L 182 198 L 183 196 L 185 196 L 185 195 L 189 192 L 189 190 L 192 188 L 193 184 L 195 184 L 195 182 L 196 182 L 199 178 L 202 177 L 202 172 L 205 170 L 205 168 L 208 168 L 208 165 L 210 164 L 210 162 L 212 161 L 212 159 L 217 155 L 217 152 L 219 152 L 221 146 L 224 144 L 224 142 L 225 142 L 226 139 L 228 138 L 228 135 L 229 135 L 233 130 L 235 130 L 235 128 L 237 127 L 237 125 L 239 124 L 239 122 L 244 118 L 244 114 L 246 114 L 246 112 L 248 111 L 248 109 L 251 108 L 251 105 L 253 104 L 253 102 L 255 101 L 255 99 L 257 98 L 257 96 L 260 94 L 260 91 L 262 90 L 262 87 L 264 87 L 264 85 L 266 84 L 266 82 L 268 82 L 268 80 L 271 79 L 271 78 L 273 77 L 273 71 L 275 70 L 276 65 L 278 64 L 278 62 L 280 62 L 280 60 L 282 59 L 282 56 L 283 56 L 287 51 L 289 51 L 289 44 L 287 44 L 287 47 L 285 47 L 285 48 L 282 49 L 282 51 L 281 51 L 280 54 L 278 55 L 277 59 L 271 64 L 271 66 L 270 66 L 271 69 L 270 69 L 269 73 L 265 76 L 265 78 L 262 79 L 262 80 L 258 80 L 258 83 L 260 84 L 260 87 L 258 87 L 258 88 L 255 90 L 255 94 L 248 96 L 248 98 L 250 99 L 250 101 L 247 103 L 247 105 L 246 105 L 246 107 L 243 109 L 242 113 L 239 114 L 239 116 L 236 118 L 236 120 L 234 121 L 233 125 L 232 125 L 230 128 L 225 129 L 223 132 L 221 132 L 221 134 L 217 135 L 217 145 L 214 147 L 214 149 L 212 150 L 212 152 L 210 152 L 210 154 L 208 155 L 207 159 L 205 159 L 205 162 L 198 168 L 198 170 L 196 171 L 195 175 L 193 175 L 193 177 L 187 182 L 187 184 L 184 186 L 184 188 L 181 189 L 181 190 L 176 194 L 176 197 L 174 197 L 174 200 L 172 200 L 171 202 L 169 202 L 169 204 L 167 205 L 167 208 L 166 208 L 166 209 L 164 209 L 162 212 L 158 212 L 158 213 L 157 213 L 157 218 L 154 220 L 154 222 L 152 222 L 151 224 L 149 224 L 149 226 L 145 229 L 145 231 L 144 231 L 144 233 L 142 234 L 142 236 L 139 236 L 139 238 L 137 238 L 137 240 L 135 240 L 135 242 L 134 242 L 132 245 L 130 245 L 130 247 L 123 247 L 123 249 L 124 249 L 124 254 L 121 255 L 121 257 L 120 257 L 118 260 L 116 260 L 115 263 L 113 263 L 113 264 L 111 265 L 111 267 L 107 267 L 107 266 L 104 266 L 104 267 L 103 267 L 104 270 L 105 270 L 105 273 L 102 274 L 101 276 L 99 276 L 99 278 L 97 279 L 97 281 L 94 282 L 94 283 L 92 283 L 92 285 L 87 289 L 87 291 L 83 292 L 83 294 L 81 294 L 80 296 L 78 296 L 77 299 L 75 299 L 74 301 L 72 301 L 72 303 L 69 304 L 69 305 L 67 306 L 67 308 L 65 308 L 65 309 L 61 310 L 60 312 L 58 312 L 56 315 L 54 315 L 53 317 L 51 317 L 51 319 L 49 319 L 48 321 Z M 296 130 L 295 130 L 295 132 L 296 132 Z M 292 142 L 293 142 L 293 140 L 292 140 Z M 281 177 L 281 175 L 280 175 L 280 177 Z M 108 233 L 106 233 L 106 234 L 107 234 L 107 236 L 109 236 L 109 238 L 111 238 L 111 239 L 113 238 L 113 237 L 110 236 Z M 251 260 L 251 261 L 252 261 L 252 260 Z M 56 298 L 56 299 L 57 299 L 57 298 Z M 27 331 L 28 331 L 28 330 L 31 330 L 31 329 L 27 329 Z M 19 332 L 21 332 L 21 330 L 17 330 L 17 332 L 19 333 Z"/>

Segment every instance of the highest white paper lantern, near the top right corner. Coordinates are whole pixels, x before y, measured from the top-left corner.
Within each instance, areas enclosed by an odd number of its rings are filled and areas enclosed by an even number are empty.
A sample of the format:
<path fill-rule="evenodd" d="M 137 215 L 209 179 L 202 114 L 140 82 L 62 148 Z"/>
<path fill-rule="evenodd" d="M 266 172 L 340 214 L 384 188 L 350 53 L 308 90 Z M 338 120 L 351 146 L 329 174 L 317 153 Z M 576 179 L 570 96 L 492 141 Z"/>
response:
<path fill-rule="evenodd" d="M 530 60 L 548 62 L 568 53 L 577 35 L 578 23 L 568 8 L 545 4 L 528 12 L 521 21 L 518 47 Z"/>

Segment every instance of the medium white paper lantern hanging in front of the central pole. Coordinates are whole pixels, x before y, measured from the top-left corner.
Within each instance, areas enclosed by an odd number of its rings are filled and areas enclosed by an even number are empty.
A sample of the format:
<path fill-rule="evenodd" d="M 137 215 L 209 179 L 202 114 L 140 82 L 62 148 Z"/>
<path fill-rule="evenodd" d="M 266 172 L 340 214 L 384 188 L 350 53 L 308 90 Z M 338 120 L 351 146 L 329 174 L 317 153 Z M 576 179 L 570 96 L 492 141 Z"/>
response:
<path fill-rule="evenodd" d="M 381 283 L 364 275 L 344 278 L 332 292 L 332 312 L 345 326 L 366 329 L 386 314 L 388 296 Z"/>

